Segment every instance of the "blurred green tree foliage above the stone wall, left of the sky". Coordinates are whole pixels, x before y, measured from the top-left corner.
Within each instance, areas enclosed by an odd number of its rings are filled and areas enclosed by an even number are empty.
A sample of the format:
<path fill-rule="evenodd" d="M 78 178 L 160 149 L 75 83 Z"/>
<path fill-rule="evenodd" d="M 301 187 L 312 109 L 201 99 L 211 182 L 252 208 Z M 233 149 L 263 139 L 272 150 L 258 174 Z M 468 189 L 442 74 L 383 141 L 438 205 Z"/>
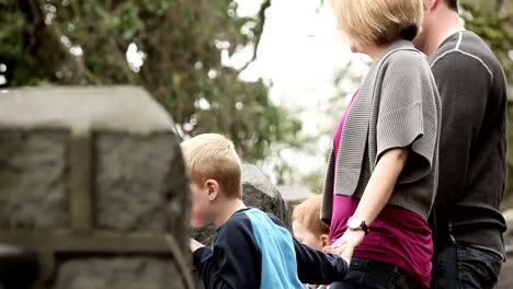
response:
<path fill-rule="evenodd" d="M 258 46 L 269 5 L 240 18 L 233 0 L 2 0 L 0 65 L 8 86 L 142 85 L 179 131 L 223 132 L 253 162 L 273 142 L 297 147 L 300 130 L 269 85 L 221 63 L 221 54 Z M 127 61 L 129 47 L 141 66 Z"/>

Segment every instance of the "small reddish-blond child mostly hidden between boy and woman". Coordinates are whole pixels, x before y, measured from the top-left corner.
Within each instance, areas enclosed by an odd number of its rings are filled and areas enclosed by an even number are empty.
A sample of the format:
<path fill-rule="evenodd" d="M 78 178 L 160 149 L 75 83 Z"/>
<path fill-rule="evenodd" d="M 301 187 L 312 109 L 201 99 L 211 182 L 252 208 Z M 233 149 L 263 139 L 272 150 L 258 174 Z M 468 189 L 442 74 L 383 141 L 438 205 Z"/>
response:
<path fill-rule="evenodd" d="M 293 231 L 297 241 L 319 251 L 330 251 L 330 228 L 320 219 L 322 196 L 308 198 L 293 212 Z M 324 285 L 305 285 L 306 289 L 326 289 Z"/>

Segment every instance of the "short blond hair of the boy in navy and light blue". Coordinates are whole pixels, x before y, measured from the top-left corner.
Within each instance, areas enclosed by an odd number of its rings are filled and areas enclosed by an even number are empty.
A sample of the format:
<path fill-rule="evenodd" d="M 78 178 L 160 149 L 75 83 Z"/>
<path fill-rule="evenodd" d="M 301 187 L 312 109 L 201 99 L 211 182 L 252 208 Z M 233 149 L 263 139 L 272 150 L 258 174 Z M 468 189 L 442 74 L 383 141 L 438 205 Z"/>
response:
<path fill-rule="evenodd" d="M 219 134 L 203 134 L 181 143 L 191 181 L 215 180 L 226 197 L 241 198 L 241 164 L 233 143 Z"/>

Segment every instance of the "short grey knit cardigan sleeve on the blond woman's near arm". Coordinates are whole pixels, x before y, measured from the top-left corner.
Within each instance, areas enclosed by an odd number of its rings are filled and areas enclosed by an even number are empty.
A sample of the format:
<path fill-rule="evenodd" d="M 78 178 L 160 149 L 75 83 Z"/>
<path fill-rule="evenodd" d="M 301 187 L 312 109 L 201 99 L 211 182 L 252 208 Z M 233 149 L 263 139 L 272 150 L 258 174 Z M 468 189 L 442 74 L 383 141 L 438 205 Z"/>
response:
<path fill-rule="evenodd" d="M 387 150 L 409 147 L 398 183 L 423 178 L 435 165 L 440 125 L 438 92 L 424 56 L 411 50 L 390 55 L 379 95 L 375 164 Z"/>

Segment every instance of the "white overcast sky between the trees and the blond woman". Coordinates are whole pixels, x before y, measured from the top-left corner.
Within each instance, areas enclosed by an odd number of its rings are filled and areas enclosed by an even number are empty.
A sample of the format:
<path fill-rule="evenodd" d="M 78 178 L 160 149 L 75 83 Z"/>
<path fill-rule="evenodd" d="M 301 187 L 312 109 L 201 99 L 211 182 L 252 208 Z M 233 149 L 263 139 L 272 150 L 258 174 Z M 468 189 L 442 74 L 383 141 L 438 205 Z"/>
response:
<path fill-rule="evenodd" d="M 238 2 L 241 15 L 253 15 L 260 7 L 256 0 Z M 319 107 L 326 106 L 327 100 L 337 93 L 335 73 L 351 60 L 356 74 L 366 71 L 365 57 L 350 51 L 347 43 L 337 31 L 329 1 L 324 2 L 321 7 L 319 0 L 273 0 L 266 11 L 256 60 L 242 73 L 248 80 L 259 77 L 270 80 L 273 83 L 271 99 L 295 112 L 303 120 L 304 134 L 315 134 L 327 126 L 334 129 L 337 119 L 328 118 Z M 235 57 L 231 62 L 243 62 L 241 59 L 249 56 L 250 50 Z M 344 90 L 350 92 L 357 86 L 347 85 Z M 319 139 L 319 150 L 310 155 L 295 150 L 281 150 L 280 153 L 295 164 L 298 174 L 324 170 L 329 141 L 330 136 Z M 269 166 L 263 167 L 267 174 Z"/>

